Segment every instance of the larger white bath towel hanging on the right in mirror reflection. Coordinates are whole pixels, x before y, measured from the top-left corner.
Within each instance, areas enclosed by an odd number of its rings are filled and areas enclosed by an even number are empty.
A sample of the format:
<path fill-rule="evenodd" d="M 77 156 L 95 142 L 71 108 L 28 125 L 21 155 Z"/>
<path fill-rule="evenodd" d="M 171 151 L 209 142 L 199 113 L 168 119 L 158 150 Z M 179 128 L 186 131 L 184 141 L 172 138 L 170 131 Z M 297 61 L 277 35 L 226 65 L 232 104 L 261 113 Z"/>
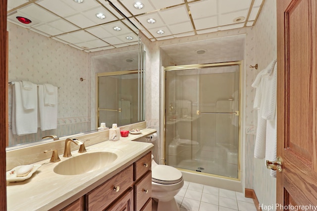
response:
<path fill-rule="evenodd" d="M 57 94 L 55 96 L 54 101 L 56 102 L 54 105 L 45 105 L 44 97 L 44 85 L 39 85 L 39 116 L 40 116 L 40 124 L 41 130 L 48 129 L 56 129 L 57 128 Z M 57 93 L 57 87 L 55 87 L 54 92 Z"/>

